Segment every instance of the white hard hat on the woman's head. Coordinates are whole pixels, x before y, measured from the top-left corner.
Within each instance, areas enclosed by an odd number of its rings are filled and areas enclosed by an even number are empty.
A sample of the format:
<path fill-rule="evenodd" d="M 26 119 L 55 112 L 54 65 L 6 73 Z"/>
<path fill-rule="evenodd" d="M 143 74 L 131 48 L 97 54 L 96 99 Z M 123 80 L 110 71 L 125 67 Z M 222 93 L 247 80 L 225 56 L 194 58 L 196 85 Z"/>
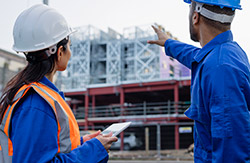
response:
<path fill-rule="evenodd" d="M 13 50 L 27 53 L 54 47 L 72 32 L 65 18 L 55 9 L 34 5 L 23 11 L 15 22 Z"/>

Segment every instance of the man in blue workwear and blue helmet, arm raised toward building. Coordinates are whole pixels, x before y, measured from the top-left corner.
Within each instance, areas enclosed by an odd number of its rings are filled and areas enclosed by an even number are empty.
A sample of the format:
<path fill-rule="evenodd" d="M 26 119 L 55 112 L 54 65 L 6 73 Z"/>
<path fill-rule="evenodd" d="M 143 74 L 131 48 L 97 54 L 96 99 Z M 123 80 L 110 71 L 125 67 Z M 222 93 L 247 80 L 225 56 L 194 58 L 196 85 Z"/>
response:
<path fill-rule="evenodd" d="M 184 0 L 190 3 L 191 39 L 202 48 L 171 40 L 156 27 L 168 56 L 192 70 L 191 106 L 195 162 L 250 162 L 250 66 L 230 31 L 240 0 Z"/>

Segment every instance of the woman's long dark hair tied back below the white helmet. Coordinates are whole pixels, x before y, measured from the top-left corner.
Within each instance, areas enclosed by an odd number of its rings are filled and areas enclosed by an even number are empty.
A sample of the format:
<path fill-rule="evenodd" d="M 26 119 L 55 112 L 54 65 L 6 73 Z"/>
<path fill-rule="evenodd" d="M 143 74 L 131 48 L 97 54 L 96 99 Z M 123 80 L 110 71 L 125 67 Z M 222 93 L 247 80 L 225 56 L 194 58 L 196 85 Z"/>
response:
<path fill-rule="evenodd" d="M 62 46 L 63 50 L 65 51 L 67 48 L 67 43 L 68 37 L 61 40 L 57 44 L 57 51 L 60 46 Z M 55 54 L 47 57 L 47 54 L 45 52 L 46 50 L 47 49 L 43 49 L 26 54 L 28 65 L 7 83 L 0 98 L 0 122 L 2 122 L 3 115 L 8 105 L 11 105 L 13 103 L 12 99 L 23 85 L 37 82 L 41 80 L 44 75 L 53 71 L 55 67 L 55 61 L 57 60 L 57 51 Z"/>

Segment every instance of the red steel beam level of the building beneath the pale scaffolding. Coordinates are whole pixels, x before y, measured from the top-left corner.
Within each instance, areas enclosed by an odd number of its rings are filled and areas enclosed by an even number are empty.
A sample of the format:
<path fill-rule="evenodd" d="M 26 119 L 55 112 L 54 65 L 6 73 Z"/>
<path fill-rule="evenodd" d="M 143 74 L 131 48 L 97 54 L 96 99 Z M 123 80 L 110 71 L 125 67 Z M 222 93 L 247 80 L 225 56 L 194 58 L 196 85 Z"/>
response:
<path fill-rule="evenodd" d="M 190 85 L 190 80 L 121 84 L 110 87 L 87 88 L 86 91 L 82 92 L 67 92 L 65 93 L 65 96 L 70 97 L 71 100 L 69 103 L 74 112 L 77 112 L 80 107 L 84 108 L 84 112 L 82 112 L 84 116 L 83 118 L 78 118 L 78 123 L 79 126 L 84 126 L 85 130 L 91 129 L 91 127 L 94 128 L 96 124 L 109 124 L 113 122 L 128 121 L 131 119 L 145 125 L 155 123 L 175 124 L 175 149 L 179 149 L 180 140 L 178 123 L 192 122 L 184 116 L 183 108 L 180 107 L 180 102 L 183 103 L 190 101 Z M 158 114 L 153 113 L 154 115 L 145 115 L 144 112 L 144 114 L 136 116 L 131 114 L 129 109 L 127 109 L 128 104 L 143 102 L 171 102 L 171 104 L 173 104 L 171 106 L 174 106 L 174 113 L 165 114 L 165 110 L 158 109 L 160 110 Z M 105 110 L 107 111 L 109 108 L 106 108 L 102 112 L 103 116 L 98 116 L 99 112 L 97 112 L 96 109 L 100 106 L 109 106 L 111 110 L 114 107 L 119 107 L 119 118 L 116 118 L 117 116 L 114 112 L 109 112 L 109 116 L 104 116 L 106 114 Z M 182 110 L 180 110 L 180 108 Z M 157 110 L 156 107 L 153 109 L 153 111 Z M 170 112 L 171 110 L 168 111 Z M 161 111 L 164 113 L 161 114 Z M 121 135 L 121 137 L 123 137 L 123 135 Z"/>

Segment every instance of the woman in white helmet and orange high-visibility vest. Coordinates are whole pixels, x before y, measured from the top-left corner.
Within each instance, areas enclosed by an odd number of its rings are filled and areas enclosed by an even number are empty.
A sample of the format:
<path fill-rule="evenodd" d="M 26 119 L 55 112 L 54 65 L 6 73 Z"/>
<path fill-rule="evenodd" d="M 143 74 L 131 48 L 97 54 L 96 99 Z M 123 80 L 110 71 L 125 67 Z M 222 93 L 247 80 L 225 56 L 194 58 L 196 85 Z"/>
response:
<path fill-rule="evenodd" d="M 45 5 L 17 18 L 13 49 L 25 54 L 28 65 L 1 97 L 0 162 L 107 162 L 117 138 L 98 131 L 80 139 L 74 115 L 52 83 L 67 67 L 72 32 L 62 15 Z"/>

